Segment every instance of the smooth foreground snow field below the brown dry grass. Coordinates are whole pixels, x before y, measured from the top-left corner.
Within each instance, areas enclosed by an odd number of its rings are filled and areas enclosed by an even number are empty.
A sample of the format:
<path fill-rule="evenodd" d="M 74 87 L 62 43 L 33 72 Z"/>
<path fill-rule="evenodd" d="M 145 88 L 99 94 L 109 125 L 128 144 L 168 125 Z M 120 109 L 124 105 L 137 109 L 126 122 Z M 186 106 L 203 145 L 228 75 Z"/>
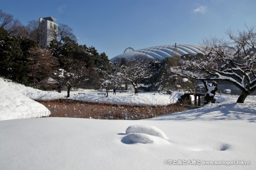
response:
<path fill-rule="evenodd" d="M 211 111 L 204 114 L 218 116 Z M 1 169 L 255 169 L 256 127 L 250 122 L 255 115 L 245 114 L 241 120 L 232 115 L 227 121 L 180 119 L 182 115 L 135 121 L 4 120 L 0 124 Z M 171 138 L 126 133 L 127 127 L 138 124 L 158 127 Z M 164 160 L 244 160 L 250 164 L 182 166 L 166 165 Z"/>

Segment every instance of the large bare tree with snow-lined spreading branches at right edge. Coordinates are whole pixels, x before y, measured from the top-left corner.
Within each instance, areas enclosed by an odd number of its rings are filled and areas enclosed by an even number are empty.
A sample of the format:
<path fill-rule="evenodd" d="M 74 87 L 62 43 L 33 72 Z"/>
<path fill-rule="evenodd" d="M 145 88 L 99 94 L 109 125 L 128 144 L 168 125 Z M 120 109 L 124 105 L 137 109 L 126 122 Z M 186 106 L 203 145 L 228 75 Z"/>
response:
<path fill-rule="evenodd" d="M 226 34 L 228 41 L 217 37 L 203 40 L 206 55 L 202 60 L 187 60 L 184 66 L 170 69 L 183 77 L 229 82 L 242 91 L 237 102 L 244 103 L 246 97 L 256 90 L 255 27 L 246 26 L 245 31 L 229 29 Z M 190 66 L 196 70 L 188 70 Z"/>

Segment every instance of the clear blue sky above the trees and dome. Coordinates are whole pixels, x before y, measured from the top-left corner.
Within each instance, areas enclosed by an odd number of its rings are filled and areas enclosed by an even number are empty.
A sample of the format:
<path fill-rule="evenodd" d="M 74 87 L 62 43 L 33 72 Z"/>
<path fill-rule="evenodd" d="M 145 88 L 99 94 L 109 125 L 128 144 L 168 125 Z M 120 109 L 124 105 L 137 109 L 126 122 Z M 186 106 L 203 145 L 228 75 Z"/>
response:
<path fill-rule="evenodd" d="M 73 29 L 79 44 L 93 45 L 109 59 L 127 47 L 197 45 L 210 35 L 224 37 L 228 28 L 255 26 L 255 8 L 255 0 L 0 0 L 0 9 L 25 26 L 52 16 Z"/>

